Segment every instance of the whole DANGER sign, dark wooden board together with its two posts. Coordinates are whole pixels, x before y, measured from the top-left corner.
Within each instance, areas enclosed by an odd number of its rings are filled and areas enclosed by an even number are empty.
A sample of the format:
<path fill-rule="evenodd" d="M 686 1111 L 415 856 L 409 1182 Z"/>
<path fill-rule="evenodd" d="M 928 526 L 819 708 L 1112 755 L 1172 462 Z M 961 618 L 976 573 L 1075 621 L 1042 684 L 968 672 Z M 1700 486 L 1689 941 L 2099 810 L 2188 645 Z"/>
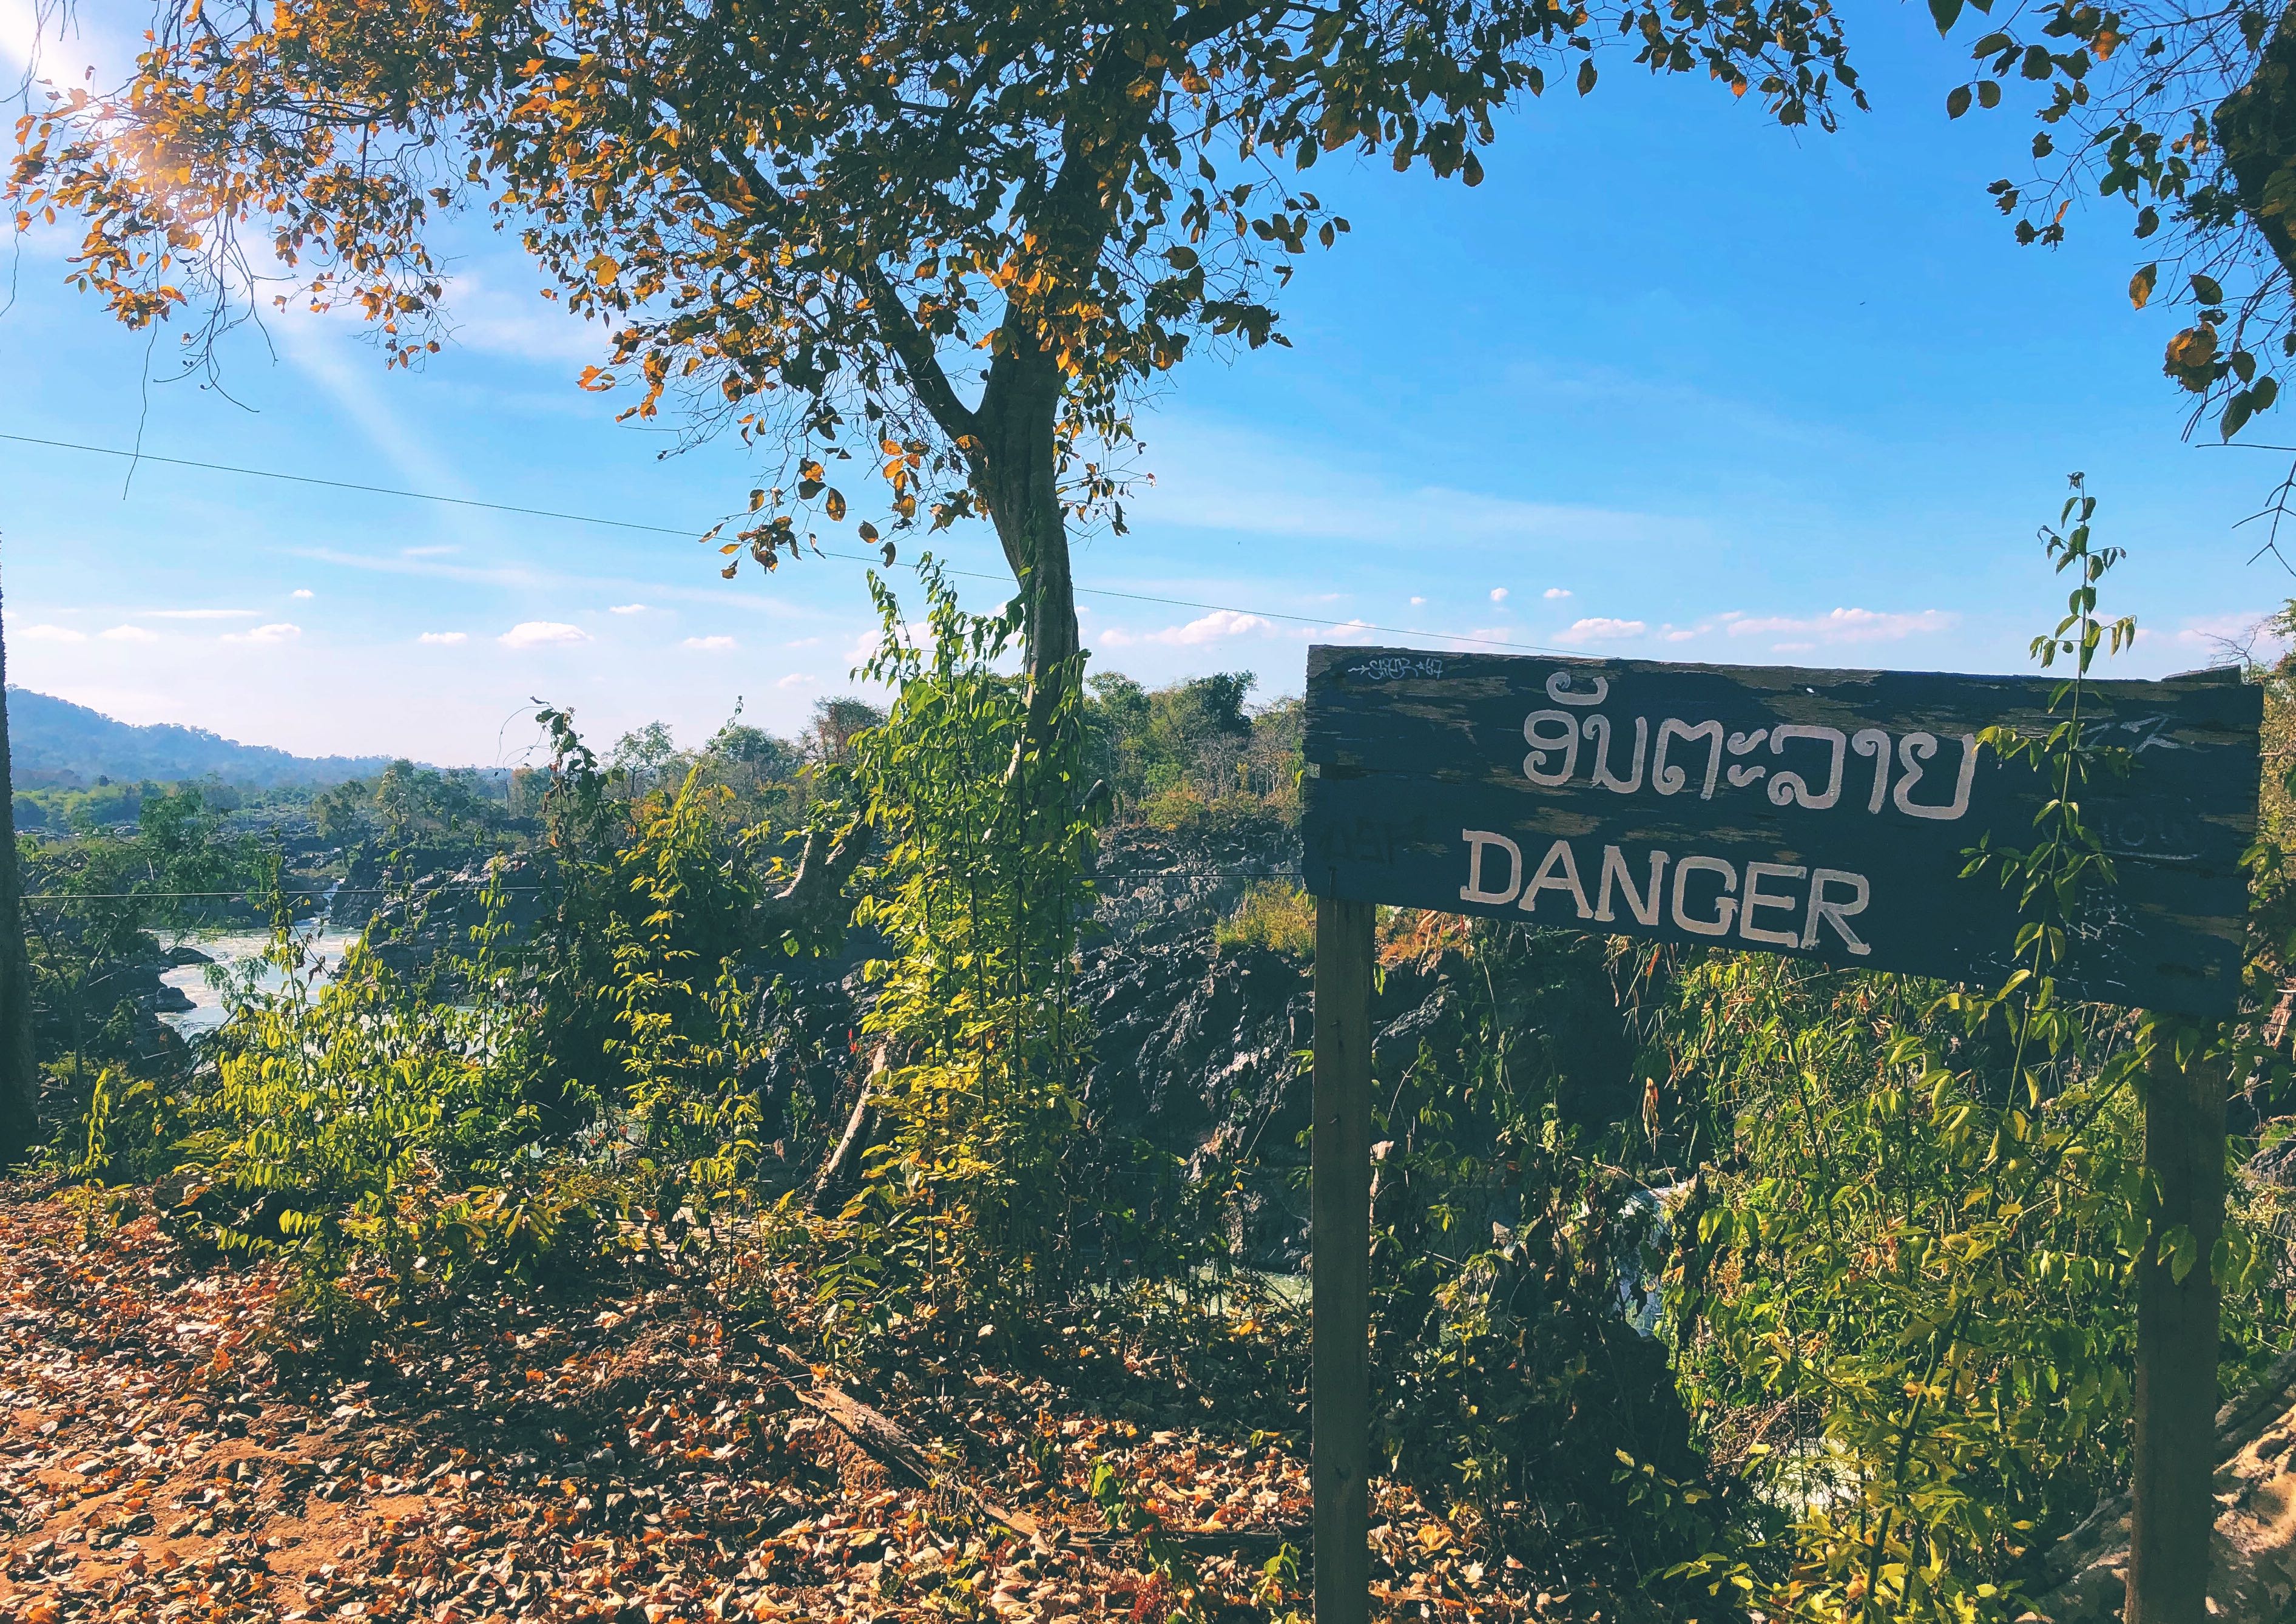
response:
<path fill-rule="evenodd" d="M 1313 648 L 1316 1619 L 1368 1617 L 1371 962 L 1378 903 L 1998 983 L 2016 896 L 1963 880 L 2050 795 L 1979 747 L 2041 735 L 2055 678 L 1669 666 Z M 2069 997 L 2225 1018 L 2239 1004 L 2262 691 L 2236 671 L 2089 682 L 2082 790 L 2115 887 L 2073 923 Z M 2213 1105 L 2211 1105 L 2213 1100 Z M 2223 1224 L 2225 1080 L 2156 1057 L 2154 1234 Z M 2213 1171 L 2211 1171 L 2213 1169 Z M 2206 1256 L 2206 1252 L 2202 1252 Z M 2204 1617 L 2216 1286 L 2147 1256 L 2138 1302 L 2131 1624 Z"/>

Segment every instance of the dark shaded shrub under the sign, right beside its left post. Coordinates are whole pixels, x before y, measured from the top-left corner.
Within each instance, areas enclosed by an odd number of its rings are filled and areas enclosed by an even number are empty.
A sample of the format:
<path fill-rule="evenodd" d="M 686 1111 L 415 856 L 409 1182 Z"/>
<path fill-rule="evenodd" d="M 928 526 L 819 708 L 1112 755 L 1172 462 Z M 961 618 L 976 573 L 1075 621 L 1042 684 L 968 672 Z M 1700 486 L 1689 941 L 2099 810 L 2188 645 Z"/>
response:
<path fill-rule="evenodd" d="M 1437 965 L 1449 992 L 1373 1091 L 1375 1440 L 1483 1546 L 1630 1594 L 1628 1617 L 1708 1617 L 1669 1571 L 1733 1546 L 1743 1509 L 1628 1314 L 1662 1231 L 1630 1171 L 1649 1146 L 1582 1121 L 1589 1061 L 1632 1054 L 1605 953 L 1479 923 Z"/>

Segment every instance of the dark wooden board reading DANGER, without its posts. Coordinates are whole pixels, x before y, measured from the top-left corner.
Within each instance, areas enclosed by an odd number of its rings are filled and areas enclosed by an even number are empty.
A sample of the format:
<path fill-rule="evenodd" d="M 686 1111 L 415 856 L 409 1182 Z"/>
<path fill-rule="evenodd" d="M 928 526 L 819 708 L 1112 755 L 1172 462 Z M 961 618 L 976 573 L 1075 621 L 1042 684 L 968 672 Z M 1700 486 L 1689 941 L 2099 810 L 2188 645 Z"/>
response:
<path fill-rule="evenodd" d="M 1313 648 L 1306 882 L 1320 896 L 1998 981 L 2018 903 L 1961 877 L 2027 845 L 2053 786 L 1979 744 L 2046 733 L 2055 678 Z M 2082 820 L 2069 992 L 2186 1015 L 2239 999 L 2262 691 L 2234 671 L 2089 682 L 2131 753 Z"/>

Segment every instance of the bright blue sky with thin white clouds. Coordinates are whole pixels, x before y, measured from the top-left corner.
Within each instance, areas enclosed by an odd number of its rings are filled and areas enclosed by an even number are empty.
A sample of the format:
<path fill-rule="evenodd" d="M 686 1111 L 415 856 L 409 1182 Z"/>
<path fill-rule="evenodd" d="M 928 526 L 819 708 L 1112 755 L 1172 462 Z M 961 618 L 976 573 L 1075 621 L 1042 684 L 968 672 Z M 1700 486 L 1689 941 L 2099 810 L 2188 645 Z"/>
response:
<path fill-rule="evenodd" d="M 1926 9 L 1848 21 L 1876 110 L 1837 136 L 1616 57 L 1593 96 L 1506 119 L 1476 191 L 1320 163 L 1355 232 L 1286 296 L 1293 347 L 1173 374 L 1141 411 L 1155 487 L 1132 533 L 1077 554 L 1086 588 L 1244 613 L 1086 593 L 1095 666 L 1249 668 L 1274 696 L 1313 636 L 1366 620 L 2016 671 L 2062 604 L 2034 526 L 2071 469 L 2099 540 L 2131 549 L 2108 609 L 2147 634 L 2122 673 L 2206 664 L 2296 593 L 2234 531 L 2282 462 L 2179 439 L 2177 319 L 2128 310 L 2122 209 L 2076 209 L 2066 248 L 2016 248 L 1984 186 L 2020 172 L 2030 124 L 1947 122 L 1961 74 Z M 108 57 L 94 23 L 51 67 Z M 69 241 L 21 243 L 5 434 L 129 446 L 142 420 L 170 457 L 696 531 L 753 482 L 732 443 L 661 459 L 661 432 L 613 425 L 618 402 L 572 384 L 602 358 L 595 328 L 484 232 L 461 239 L 459 335 L 427 370 L 386 372 L 347 322 L 273 317 L 227 354 L 232 400 L 147 386 L 145 338 L 62 287 Z M 726 583 L 677 535 L 161 464 L 124 485 L 117 459 L 9 441 L 0 535 L 16 682 L 298 751 L 519 760 L 533 696 L 606 740 L 657 717 L 698 740 L 737 698 L 788 730 L 854 687 L 872 625 L 850 563 Z M 985 531 L 939 549 L 999 567 Z"/>

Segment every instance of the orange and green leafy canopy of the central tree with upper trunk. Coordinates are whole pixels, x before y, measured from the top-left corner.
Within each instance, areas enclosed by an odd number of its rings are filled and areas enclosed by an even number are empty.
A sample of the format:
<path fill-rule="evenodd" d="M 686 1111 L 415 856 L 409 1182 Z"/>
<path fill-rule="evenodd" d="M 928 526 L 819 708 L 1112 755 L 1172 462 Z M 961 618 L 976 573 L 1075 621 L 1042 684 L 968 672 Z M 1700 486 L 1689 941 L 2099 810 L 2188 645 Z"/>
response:
<path fill-rule="evenodd" d="M 163 0 L 135 74 L 28 115 L 18 225 L 193 365 L 264 299 L 439 347 L 441 214 L 482 204 L 606 322 L 597 390 L 778 471 L 728 574 L 820 524 L 992 519 L 1038 698 L 1075 685 L 1068 526 L 1123 528 L 1130 407 L 1348 230 L 1329 152 L 1481 179 L 1495 115 L 1623 51 L 1784 124 L 1862 103 L 1828 0 Z M 845 466 L 850 464 L 850 469 Z M 1061 671 L 1056 682 L 1045 682 Z"/>

